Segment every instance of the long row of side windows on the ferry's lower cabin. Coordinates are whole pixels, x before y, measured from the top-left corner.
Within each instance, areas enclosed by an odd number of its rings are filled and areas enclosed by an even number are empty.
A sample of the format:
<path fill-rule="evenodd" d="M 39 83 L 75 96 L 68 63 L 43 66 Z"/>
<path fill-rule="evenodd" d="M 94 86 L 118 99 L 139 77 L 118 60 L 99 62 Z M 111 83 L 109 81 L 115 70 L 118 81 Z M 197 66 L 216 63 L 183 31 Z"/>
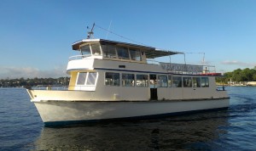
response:
<path fill-rule="evenodd" d="M 121 74 L 121 86 L 123 87 L 209 87 L 208 77 L 191 76 L 158 76 L 157 80 L 148 80 L 148 75 Z M 136 77 L 136 79 L 135 79 Z M 106 72 L 105 85 L 120 86 L 120 74 Z"/>

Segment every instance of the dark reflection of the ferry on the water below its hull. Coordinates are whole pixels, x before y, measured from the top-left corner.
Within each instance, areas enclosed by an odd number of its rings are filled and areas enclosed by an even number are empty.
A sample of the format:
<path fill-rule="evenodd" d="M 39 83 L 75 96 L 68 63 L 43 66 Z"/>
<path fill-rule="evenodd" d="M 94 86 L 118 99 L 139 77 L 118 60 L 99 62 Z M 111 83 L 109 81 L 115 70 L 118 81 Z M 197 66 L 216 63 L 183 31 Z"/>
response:
<path fill-rule="evenodd" d="M 37 150 L 212 150 L 224 148 L 228 110 L 158 120 L 44 127 Z M 222 145 L 222 146 L 221 146 Z"/>

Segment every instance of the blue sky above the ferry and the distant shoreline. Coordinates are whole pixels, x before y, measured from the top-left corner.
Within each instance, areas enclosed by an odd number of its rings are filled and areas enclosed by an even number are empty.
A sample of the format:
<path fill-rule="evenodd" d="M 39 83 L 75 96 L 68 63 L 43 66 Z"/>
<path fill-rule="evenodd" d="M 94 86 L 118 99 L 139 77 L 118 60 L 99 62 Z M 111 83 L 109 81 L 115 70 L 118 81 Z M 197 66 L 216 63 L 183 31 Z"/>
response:
<path fill-rule="evenodd" d="M 79 55 L 72 44 L 93 23 L 95 38 L 183 52 L 186 64 L 204 59 L 222 73 L 251 69 L 255 6 L 254 0 L 1 0 L 0 79 L 67 76 L 68 58 Z M 184 63 L 183 55 L 171 59 Z"/>

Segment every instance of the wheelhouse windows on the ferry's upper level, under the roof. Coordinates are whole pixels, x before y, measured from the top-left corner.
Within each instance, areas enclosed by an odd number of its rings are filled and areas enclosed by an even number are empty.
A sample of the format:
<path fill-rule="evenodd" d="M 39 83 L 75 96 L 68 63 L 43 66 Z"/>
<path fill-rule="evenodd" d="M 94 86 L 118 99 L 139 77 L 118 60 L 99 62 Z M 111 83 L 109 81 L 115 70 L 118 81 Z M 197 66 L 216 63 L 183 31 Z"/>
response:
<path fill-rule="evenodd" d="M 82 55 L 102 55 L 105 58 L 132 59 L 141 61 L 141 51 L 137 48 L 119 47 L 109 44 L 90 43 L 80 47 Z"/>

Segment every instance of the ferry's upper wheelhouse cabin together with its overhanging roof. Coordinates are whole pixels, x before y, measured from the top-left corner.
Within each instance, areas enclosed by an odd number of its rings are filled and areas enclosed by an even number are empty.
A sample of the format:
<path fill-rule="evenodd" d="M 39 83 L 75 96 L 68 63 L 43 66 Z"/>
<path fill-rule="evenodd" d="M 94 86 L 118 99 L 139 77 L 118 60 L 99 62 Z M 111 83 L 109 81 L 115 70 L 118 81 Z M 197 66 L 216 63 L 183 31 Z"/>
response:
<path fill-rule="evenodd" d="M 74 42 L 73 50 L 79 51 L 81 55 L 73 56 L 70 59 L 90 57 L 93 59 L 113 59 L 145 64 L 147 63 L 147 59 L 154 59 L 180 53 L 104 39 L 84 39 L 79 42 Z"/>

